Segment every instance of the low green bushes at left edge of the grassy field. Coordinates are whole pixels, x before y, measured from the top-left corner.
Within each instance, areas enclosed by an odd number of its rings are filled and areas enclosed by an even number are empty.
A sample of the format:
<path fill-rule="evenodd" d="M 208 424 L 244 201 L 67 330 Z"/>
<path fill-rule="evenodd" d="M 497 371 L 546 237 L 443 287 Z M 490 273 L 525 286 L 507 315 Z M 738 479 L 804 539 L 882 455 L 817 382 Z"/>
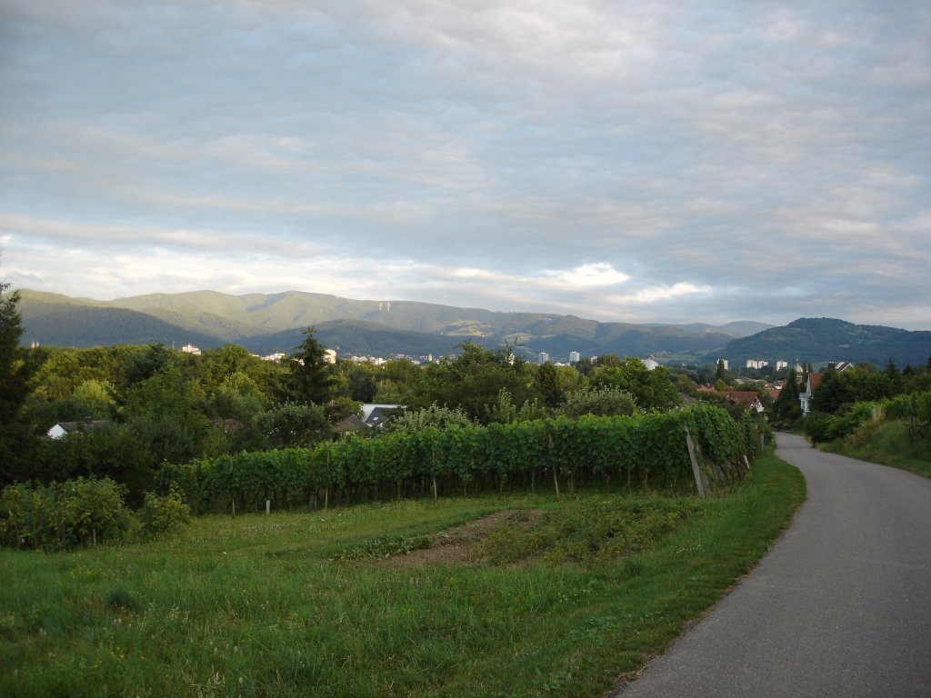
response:
<path fill-rule="evenodd" d="M 124 493 L 125 488 L 109 478 L 8 485 L 0 493 L 2 542 L 59 550 L 118 540 L 131 520 Z"/>

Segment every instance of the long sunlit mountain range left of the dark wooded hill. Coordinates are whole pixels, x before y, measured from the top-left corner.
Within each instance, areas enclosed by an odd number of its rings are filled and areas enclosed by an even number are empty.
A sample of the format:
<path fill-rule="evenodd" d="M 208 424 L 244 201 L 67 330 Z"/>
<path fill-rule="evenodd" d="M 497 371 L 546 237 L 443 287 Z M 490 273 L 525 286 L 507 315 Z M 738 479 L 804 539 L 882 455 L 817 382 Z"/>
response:
<path fill-rule="evenodd" d="M 566 359 L 616 353 L 721 351 L 734 331 L 712 326 L 645 326 L 603 323 L 575 315 L 501 313 L 412 301 L 357 301 L 288 291 L 232 296 L 216 291 L 156 293 L 115 301 L 21 291 L 23 342 L 92 344 L 228 342 L 257 353 L 290 352 L 301 330 L 317 328 L 319 340 L 341 356 L 406 354 L 442 356 L 466 340 L 497 347 L 517 344 L 527 356 L 547 352 Z"/>

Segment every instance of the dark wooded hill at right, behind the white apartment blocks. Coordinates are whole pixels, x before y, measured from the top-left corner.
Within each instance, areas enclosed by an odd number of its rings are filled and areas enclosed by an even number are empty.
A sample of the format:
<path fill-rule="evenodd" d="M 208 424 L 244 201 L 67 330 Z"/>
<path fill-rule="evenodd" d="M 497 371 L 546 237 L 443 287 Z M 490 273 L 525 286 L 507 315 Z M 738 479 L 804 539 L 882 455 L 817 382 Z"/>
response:
<path fill-rule="evenodd" d="M 931 332 L 854 325 L 830 317 L 800 317 L 781 328 L 764 329 L 728 342 L 724 356 L 737 365 L 749 358 L 819 363 L 869 362 L 924 366 L 931 356 Z"/>

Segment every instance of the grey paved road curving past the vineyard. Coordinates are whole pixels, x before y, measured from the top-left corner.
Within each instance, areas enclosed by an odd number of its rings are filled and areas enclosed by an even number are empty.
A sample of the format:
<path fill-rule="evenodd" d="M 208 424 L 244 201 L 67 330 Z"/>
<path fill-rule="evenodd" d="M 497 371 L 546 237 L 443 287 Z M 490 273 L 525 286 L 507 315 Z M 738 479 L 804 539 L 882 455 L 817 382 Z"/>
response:
<path fill-rule="evenodd" d="M 777 436 L 808 500 L 622 698 L 931 696 L 931 480 Z"/>

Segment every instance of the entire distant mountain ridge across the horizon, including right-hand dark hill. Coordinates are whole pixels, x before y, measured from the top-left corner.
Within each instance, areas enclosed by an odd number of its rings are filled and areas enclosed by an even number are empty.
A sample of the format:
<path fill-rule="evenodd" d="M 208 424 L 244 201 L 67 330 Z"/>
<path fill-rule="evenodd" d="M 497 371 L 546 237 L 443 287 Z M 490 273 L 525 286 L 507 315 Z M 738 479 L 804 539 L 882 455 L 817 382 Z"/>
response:
<path fill-rule="evenodd" d="M 737 365 L 748 358 L 884 365 L 892 358 L 904 366 L 924 365 L 931 354 L 931 332 L 832 318 L 799 318 L 782 328 L 753 321 L 637 325 L 427 302 L 358 301 L 302 291 L 241 296 L 194 291 L 95 301 L 23 289 L 21 296 L 25 344 L 163 342 L 210 349 L 236 343 L 259 354 L 290 353 L 301 342 L 302 330 L 313 326 L 320 342 L 340 356 L 443 356 L 466 340 L 488 347 L 509 342 L 527 356 L 546 352 L 554 360 L 579 352 L 688 356 L 699 363 L 724 357 Z"/>

